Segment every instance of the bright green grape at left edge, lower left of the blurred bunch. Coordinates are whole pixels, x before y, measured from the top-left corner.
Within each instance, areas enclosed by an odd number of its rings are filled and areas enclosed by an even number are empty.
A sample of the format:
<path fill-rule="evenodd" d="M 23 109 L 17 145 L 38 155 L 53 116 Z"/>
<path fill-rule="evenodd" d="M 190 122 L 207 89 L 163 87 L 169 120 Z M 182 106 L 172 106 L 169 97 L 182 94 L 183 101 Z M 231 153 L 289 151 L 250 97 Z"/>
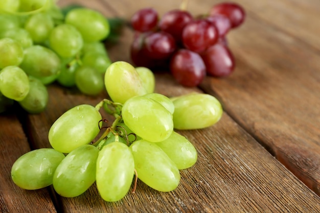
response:
<path fill-rule="evenodd" d="M 21 68 L 7 66 L 0 71 L 0 92 L 7 98 L 21 101 L 29 89 L 29 78 Z"/>

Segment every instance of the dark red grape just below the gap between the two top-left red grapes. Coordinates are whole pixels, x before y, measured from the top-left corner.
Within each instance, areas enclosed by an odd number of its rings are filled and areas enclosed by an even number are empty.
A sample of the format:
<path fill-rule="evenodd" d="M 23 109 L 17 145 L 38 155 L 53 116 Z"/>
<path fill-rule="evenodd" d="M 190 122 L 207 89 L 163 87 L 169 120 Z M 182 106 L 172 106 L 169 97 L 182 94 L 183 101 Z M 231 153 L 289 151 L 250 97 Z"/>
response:
<path fill-rule="evenodd" d="M 147 35 L 145 46 L 149 57 L 154 59 L 168 58 L 176 50 L 173 36 L 163 31 Z"/>

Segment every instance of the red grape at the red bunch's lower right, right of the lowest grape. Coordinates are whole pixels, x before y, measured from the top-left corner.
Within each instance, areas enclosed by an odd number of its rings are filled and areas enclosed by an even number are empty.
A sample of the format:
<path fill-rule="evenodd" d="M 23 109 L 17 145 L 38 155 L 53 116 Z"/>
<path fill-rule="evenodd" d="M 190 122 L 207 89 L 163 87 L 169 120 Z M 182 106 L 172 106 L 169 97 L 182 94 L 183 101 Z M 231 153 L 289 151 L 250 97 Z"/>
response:
<path fill-rule="evenodd" d="M 201 54 L 207 74 L 215 77 L 230 75 L 235 68 L 235 59 L 226 45 L 218 42 Z"/>

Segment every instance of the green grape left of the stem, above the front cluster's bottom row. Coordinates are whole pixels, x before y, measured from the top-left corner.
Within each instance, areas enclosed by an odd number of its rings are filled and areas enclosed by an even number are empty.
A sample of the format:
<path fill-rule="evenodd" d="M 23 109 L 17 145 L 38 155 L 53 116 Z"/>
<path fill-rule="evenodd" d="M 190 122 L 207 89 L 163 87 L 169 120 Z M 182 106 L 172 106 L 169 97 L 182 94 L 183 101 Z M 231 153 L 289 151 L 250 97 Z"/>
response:
<path fill-rule="evenodd" d="M 90 105 L 82 104 L 64 112 L 49 130 L 51 146 L 62 153 L 89 144 L 99 133 L 99 111 Z"/>

